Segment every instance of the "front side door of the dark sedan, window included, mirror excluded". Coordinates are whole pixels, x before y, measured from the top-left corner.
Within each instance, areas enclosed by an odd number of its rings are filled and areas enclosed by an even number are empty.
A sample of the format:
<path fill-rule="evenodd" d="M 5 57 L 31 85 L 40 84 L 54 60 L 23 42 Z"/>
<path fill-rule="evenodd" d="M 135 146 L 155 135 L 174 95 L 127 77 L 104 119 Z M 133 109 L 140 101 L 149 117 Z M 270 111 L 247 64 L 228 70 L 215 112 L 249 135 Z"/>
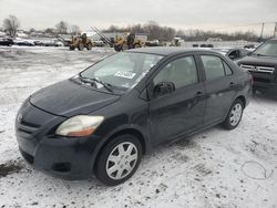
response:
<path fill-rule="evenodd" d="M 151 80 L 150 86 L 172 82 L 175 91 L 152 97 L 148 104 L 150 127 L 155 144 L 203 126 L 205 96 L 194 55 L 165 63 Z M 147 87 L 152 94 L 153 87 Z"/>

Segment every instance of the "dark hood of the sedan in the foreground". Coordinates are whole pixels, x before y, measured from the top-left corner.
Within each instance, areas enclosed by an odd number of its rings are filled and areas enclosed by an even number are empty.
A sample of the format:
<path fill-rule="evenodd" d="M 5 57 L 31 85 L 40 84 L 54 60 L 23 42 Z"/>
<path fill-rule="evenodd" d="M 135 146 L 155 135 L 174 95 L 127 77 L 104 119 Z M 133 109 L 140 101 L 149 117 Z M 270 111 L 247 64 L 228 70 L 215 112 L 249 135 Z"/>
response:
<path fill-rule="evenodd" d="M 51 114 L 71 117 L 91 113 L 119 98 L 119 95 L 99 92 L 65 80 L 32 94 L 30 103 Z"/>

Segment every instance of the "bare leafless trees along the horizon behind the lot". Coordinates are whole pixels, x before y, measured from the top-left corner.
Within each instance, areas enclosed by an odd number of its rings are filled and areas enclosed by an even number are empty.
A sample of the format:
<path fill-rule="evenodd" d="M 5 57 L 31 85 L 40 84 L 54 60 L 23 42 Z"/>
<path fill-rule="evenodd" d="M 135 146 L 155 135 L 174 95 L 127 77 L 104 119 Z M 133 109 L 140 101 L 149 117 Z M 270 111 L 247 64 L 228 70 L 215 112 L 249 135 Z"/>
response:
<path fill-rule="evenodd" d="M 3 31 L 11 38 L 17 37 L 17 32 L 20 28 L 20 22 L 14 15 L 9 15 L 3 20 L 2 24 Z M 69 24 L 65 21 L 60 21 L 54 28 L 48 28 L 45 30 L 37 31 L 35 29 L 30 29 L 29 34 L 33 32 L 42 32 L 49 35 L 57 34 L 78 34 L 81 33 L 81 29 L 76 24 Z M 246 40 L 246 41 L 264 41 L 265 39 L 258 37 L 253 31 L 248 32 L 215 32 L 215 31 L 204 31 L 204 30 L 178 30 L 176 31 L 171 27 L 162 27 L 155 21 L 148 21 L 146 24 L 133 24 L 127 27 L 116 27 L 111 25 L 102 32 L 134 32 L 134 33 L 146 33 L 148 40 L 160 40 L 160 41 L 172 41 L 174 37 L 179 37 L 185 41 L 206 41 L 209 38 L 220 38 L 223 41 L 235 41 L 235 40 Z"/>

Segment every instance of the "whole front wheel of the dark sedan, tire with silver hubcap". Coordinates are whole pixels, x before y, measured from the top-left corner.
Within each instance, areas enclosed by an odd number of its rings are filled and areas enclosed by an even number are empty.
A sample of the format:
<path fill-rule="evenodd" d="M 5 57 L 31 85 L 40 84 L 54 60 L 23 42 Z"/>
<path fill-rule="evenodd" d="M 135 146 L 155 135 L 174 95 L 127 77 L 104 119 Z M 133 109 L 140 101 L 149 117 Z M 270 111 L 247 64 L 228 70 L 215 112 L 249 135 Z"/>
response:
<path fill-rule="evenodd" d="M 130 154 L 127 153 L 129 149 Z M 98 157 L 96 178 L 106 186 L 122 184 L 134 175 L 141 158 L 142 145 L 135 136 L 116 136 L 104 146 Z"/>

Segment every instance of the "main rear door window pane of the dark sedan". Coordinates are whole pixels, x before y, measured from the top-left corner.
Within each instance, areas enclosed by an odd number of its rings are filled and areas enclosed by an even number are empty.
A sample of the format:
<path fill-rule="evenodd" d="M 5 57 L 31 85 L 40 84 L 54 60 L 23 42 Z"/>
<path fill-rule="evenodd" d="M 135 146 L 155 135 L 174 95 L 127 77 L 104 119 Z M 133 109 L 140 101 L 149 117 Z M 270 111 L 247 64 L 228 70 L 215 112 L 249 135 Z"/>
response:
<path fill-rule="evenodd" d="M 201 55 L 206 80 L 214 80 L 220 76 L 225 76 L 225 70 L 220 58 L 214 55 Z"/>

